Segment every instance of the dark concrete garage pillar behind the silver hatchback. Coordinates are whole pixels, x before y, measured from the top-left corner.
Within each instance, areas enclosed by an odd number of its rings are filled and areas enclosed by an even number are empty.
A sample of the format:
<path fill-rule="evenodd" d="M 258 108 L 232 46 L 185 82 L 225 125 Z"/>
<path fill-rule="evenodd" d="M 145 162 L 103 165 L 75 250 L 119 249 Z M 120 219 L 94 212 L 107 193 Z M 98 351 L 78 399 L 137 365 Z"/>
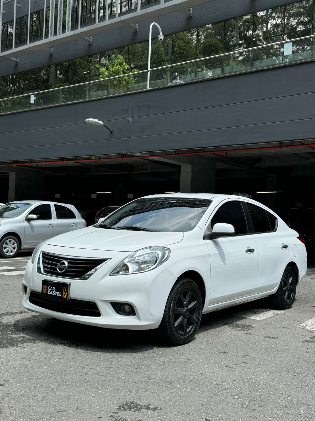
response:
<path fill-rule="evenodd" d="M 6 168 L 6 167 L 4 167 Z M 32 168 L 8 167 L 10 174 L 8 202 L 13 200 L 43 200 L 44 173 Z"/>

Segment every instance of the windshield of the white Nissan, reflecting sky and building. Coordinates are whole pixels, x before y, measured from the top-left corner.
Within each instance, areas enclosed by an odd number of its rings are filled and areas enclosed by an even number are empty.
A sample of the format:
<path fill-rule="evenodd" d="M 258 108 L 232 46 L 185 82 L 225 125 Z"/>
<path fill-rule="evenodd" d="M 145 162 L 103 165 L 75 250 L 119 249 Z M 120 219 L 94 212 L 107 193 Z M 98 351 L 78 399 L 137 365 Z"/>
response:
<path fill-rule="evenodd" d="M 98 228 L 181 232 L 193 229 L 211 200 L 147 197 L 128 203 L 104 219 Z"/>

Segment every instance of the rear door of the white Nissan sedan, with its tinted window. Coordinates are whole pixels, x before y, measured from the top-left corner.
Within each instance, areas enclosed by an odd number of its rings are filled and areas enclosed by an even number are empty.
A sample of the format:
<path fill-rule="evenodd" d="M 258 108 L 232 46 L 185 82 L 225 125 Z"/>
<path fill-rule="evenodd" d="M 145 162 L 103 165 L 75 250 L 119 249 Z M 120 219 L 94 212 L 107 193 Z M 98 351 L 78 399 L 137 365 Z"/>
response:
<path fill-rule="evenodd" d="M 253 203 L 246 205 L 259 253 L 257 293 L 271 291 L 278 285 L 289 259 L 289 243 L 275 215 Z"/>

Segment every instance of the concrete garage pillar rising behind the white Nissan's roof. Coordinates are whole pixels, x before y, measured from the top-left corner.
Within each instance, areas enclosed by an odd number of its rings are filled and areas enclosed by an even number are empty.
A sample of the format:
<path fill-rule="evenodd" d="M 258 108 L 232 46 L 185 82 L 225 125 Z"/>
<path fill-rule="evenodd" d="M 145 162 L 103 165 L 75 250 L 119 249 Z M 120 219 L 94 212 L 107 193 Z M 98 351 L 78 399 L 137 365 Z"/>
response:
<path fill-rule="evenodd" d="M 214 193 L 215 160 L 202 156 L 155 158 L 181 166 L 181 193 Z"/>

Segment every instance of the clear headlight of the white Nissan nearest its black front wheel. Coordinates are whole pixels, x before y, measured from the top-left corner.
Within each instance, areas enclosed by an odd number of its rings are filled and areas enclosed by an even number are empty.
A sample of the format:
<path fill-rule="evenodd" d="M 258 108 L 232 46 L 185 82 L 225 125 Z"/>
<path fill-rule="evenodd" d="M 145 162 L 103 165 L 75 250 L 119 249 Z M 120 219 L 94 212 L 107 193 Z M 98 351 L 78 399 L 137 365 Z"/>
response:
<path fill-rule="evenodd" d="M 167 247 L 147 247 L 126 257 L 110 275 L 128 275 L 147 272 L 164 263 L 171 254 Z"/>

